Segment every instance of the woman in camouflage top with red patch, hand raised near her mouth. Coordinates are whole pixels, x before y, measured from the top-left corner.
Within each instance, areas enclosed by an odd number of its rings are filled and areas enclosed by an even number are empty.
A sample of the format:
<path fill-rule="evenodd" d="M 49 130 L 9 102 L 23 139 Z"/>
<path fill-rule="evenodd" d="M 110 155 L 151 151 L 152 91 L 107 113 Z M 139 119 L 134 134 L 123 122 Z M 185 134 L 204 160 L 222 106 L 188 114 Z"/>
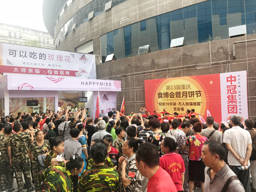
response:
<path fill-rule="evenodd" d="M 135 153 L 138 148 L 138 142 L 134 138 L 127 138 L 123 143 L 123 155 L 120 157 L 119 172 L 120 172 L 120 190 L 123 191 L 142 191 L 142 175 L 136 167 Z"/>

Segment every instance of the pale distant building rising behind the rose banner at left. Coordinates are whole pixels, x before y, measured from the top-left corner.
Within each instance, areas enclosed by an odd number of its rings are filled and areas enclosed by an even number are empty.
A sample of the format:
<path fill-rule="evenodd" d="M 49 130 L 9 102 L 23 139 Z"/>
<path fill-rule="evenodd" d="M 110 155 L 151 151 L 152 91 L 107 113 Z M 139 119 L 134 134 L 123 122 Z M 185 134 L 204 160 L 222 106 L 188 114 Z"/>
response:
<path fill-rule="evenodd" d="M 0 24 L 0 42 L 24 45 L 30 39 L 38 40 L 42 48 L 54 49 L 54 39 L 48 32 L 38 31 L 20 26 Z"/>

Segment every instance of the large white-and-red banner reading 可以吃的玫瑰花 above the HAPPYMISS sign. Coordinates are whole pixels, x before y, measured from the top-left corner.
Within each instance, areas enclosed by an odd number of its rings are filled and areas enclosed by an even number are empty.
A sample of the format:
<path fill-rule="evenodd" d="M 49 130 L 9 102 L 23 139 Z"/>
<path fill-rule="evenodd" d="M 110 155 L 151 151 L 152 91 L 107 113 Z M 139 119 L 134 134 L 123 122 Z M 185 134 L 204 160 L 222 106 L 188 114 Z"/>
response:
<path fill-rule="evenodd" d="M 0 43 L 0 73 L 95 79 L 95 55 Z"/>

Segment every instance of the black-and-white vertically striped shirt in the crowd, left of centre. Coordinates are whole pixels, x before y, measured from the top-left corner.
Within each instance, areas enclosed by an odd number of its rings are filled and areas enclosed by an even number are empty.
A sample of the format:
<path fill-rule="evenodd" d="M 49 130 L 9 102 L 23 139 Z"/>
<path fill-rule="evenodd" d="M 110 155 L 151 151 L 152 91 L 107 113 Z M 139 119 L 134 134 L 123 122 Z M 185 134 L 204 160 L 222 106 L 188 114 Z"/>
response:
<path fill-rule="evenodd" d="M 70 160 L 70 158 L 78 154 L 79 156 L 82 155 L 82 145 L 75 139 L 68 139 L 64 142 L 64 157 L 66 160 Z"/>

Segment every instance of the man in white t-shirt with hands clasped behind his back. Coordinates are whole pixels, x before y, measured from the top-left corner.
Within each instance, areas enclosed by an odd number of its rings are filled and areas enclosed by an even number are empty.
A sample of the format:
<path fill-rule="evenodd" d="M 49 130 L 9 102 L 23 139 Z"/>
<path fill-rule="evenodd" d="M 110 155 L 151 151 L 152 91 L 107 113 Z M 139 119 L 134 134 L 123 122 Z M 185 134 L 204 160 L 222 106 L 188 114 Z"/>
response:
<path fill-rule="evenodd" d="M 228 148 L 228 164 L 230 169 L 238 176 L 238 179 L 244 185 L 245 191 L 250 192 L 250 168 L 245 170 L 238 170 L 240 166 L 249 166 L 249 158 L 252 151 L 252 141 L 250 133 L 242 129 L 239 124 L 241 117 L 239 115 L 232 115 L 230 124 L 232 128 L 225 131 L 223 143 L 226 143 Z"/>

